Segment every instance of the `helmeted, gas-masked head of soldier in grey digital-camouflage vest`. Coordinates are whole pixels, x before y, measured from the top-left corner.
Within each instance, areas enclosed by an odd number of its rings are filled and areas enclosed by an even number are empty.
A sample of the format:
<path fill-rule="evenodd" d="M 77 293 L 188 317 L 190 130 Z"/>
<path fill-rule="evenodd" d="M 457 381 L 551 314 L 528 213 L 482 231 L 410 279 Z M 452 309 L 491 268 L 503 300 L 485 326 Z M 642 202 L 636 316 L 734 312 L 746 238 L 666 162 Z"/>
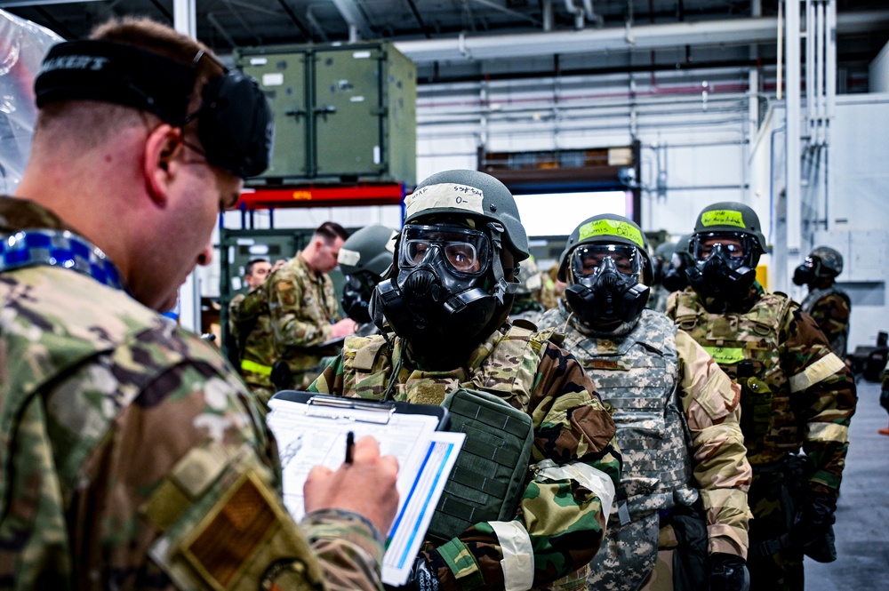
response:
<path fill-rule="evenodd" d="M 602 333 L 637 323 L 653 278 L 647 246 L 642 230 L 623 216 L 595 216 L 573 231 L 558 278 L 569 284 L 565 302 L 577 322 Z"/>

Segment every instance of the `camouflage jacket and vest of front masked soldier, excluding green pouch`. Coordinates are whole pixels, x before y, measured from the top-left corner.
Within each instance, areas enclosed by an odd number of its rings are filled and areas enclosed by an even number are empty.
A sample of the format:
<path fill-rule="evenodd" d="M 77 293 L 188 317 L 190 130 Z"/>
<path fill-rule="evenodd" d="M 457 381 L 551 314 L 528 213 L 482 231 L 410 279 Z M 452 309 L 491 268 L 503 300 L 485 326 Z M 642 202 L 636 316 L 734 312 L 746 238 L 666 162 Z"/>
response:
<path fill-rule="evenodd" d="M 620 481 L 613 421 L 581 366 L 549 333 L 508 327 L 452 371 L 413 369 L 394 335 L 391 348 L 382 336 L 348 337 L 342 355 L 309 388 L 380 400 L 396 367 L 396 401 L 438 404 L 468 387 L 532 417 L 533 464 L 516 519 L 477 523 L 441 547 L 427 542 L 425 555 L 445 590 L 543 586 L 586 565 Z"/>

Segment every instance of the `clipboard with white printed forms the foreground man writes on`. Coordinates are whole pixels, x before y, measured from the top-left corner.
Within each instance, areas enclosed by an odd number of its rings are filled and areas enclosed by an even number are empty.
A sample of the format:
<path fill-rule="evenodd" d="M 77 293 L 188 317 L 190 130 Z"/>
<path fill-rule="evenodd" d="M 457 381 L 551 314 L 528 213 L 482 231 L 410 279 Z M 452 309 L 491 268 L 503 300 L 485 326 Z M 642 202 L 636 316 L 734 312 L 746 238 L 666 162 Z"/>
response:
<path fill-rule="evenodd" d="M 372 435 L 380 454 L 398 459 L 398 511 L 386 540 L 382 579 L 403 585 L 466 435 L 440 430 L 447 427 L 447 411 L 427 404 L 284 390 L 268 406 L 268 427 L 281 457 L 284 506 L 297 523 L 305 515 L 302 488 L 308 472 L 318 465 L 339 468 L 349 431 L 356 440 Z"/>

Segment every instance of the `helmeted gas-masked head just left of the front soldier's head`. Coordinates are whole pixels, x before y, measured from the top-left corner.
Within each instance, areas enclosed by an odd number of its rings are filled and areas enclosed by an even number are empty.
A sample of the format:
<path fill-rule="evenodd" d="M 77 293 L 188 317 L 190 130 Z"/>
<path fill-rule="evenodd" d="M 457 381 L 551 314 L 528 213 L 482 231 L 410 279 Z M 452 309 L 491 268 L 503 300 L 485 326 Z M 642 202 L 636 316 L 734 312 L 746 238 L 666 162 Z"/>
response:
<path fill-rule="evenodd" d="M 358 336 L 366 337 L 378 331 L 371 322 L 369 306 L 373 288 L 392 266 L 397 236 L 392 228 L 373 224 L 357 230 L 340 247 L 337 260 L 346 276 L 340 304 L 346 315 L 358 323 Z"/>

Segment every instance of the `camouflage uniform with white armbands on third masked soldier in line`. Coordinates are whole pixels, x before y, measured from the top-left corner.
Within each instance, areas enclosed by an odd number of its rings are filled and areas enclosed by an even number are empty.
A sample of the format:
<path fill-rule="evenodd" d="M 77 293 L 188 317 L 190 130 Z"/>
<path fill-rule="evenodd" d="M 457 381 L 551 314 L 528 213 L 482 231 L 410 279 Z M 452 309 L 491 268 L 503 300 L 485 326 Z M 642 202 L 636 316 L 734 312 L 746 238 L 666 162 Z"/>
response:
<path fill-rule="evenodd" d="M 753 467 L 751 588 L 802 589 L 802 551 L 775 545 L 793 519 L 783 490 L 798 480 L 789 454 L 802 447 L 808 457 L 799 486 L 836 498 L 857 402 L 852 376 L 796 302 L 759 284 L 746 314 L 709 314 L 690 289 L 670 296 L 667 314 L 741 385 L 741 430 Z"/>

